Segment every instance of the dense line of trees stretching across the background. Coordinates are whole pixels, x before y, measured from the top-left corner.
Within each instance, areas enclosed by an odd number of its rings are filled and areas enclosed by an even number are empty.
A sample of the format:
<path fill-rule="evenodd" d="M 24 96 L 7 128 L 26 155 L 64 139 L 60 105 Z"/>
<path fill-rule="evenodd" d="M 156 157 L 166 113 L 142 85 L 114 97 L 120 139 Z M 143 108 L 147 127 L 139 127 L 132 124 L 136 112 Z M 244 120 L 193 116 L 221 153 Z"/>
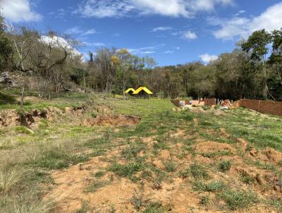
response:
<path fill-rule="evenodd" d="M 42 97 L 80 88 L 124 95 L 145 85 L 164 97 L 273 99 L 282 101 L 282 29 L 253 32 L 231 53 L 204 65 L 200 61 L 158 67 L 154 59 L 126 49 L 97 49 L 84 61 L 79 42 L 56 32 L 41 35 L 27 28 L 7 29 L 0 16 L 0 72 L 18 72 L 22 90 Z"/>

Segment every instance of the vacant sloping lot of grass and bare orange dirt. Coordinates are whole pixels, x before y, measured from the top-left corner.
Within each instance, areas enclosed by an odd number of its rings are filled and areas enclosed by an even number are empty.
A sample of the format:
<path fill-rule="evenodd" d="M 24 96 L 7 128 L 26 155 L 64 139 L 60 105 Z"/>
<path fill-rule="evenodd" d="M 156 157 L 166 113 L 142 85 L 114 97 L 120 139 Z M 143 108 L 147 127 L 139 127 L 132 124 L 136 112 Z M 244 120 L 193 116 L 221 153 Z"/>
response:
<path fill-rule="evenodd" d="M 17 99 L 0 96 L 0 212 L 282 211 L 282 117 L 87 94 L 27 97 L 21 111 Z"/>

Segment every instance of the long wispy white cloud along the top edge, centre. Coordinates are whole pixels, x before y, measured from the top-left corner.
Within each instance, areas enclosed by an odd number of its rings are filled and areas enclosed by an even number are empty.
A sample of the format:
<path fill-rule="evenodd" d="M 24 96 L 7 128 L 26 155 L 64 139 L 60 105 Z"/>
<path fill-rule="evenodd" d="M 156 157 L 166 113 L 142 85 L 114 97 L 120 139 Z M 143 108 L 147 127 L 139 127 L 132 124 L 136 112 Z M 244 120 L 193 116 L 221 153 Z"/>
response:
<path fill-rule="evenodd" d="M 122 17 L 137 13 L 190 18 L 200 11 L 214 11 L 216 6 L 233 4 L 233 0 L 87 0 L 73 13 L 85 17 Z"/>

